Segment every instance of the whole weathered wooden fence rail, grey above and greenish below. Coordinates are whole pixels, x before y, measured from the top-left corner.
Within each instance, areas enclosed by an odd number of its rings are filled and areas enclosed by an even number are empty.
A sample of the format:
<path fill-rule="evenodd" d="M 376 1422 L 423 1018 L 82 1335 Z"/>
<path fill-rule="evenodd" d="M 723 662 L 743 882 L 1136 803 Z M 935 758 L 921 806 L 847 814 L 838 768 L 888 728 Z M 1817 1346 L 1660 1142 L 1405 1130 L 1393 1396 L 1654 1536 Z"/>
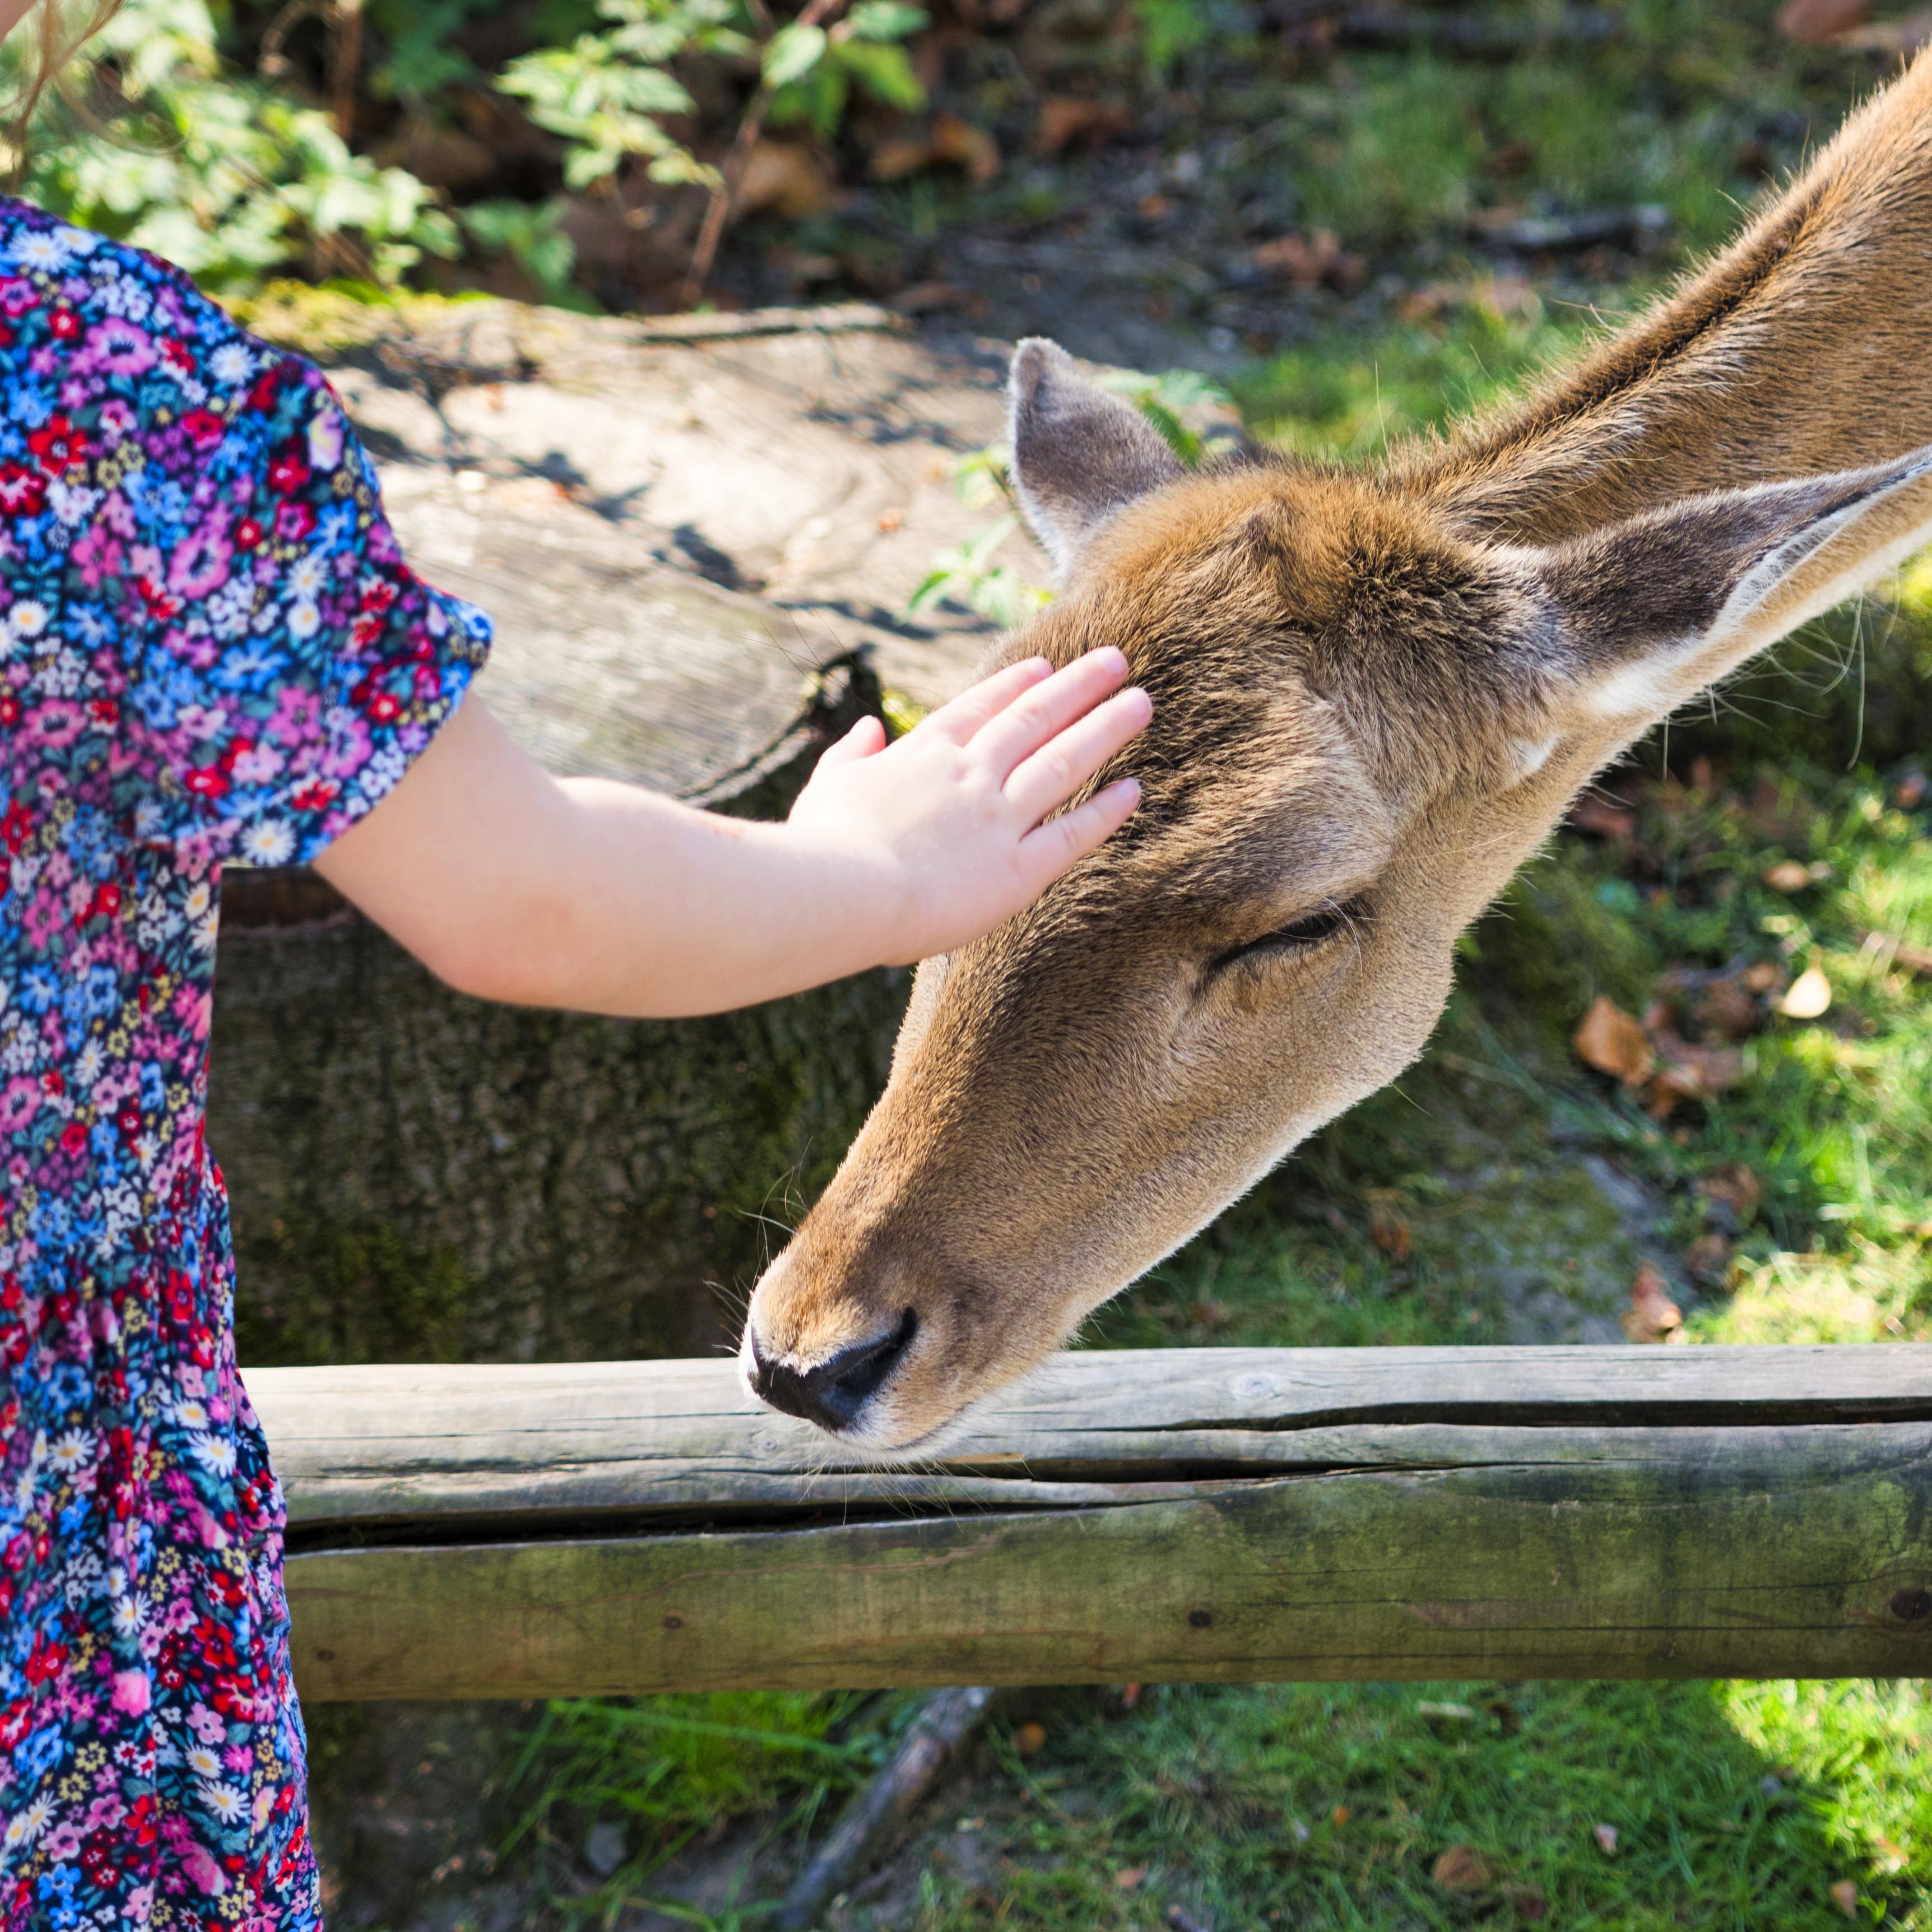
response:
<path fill-rule="evenodd" d="M 920 1468 L 726 1362 L 255 1370 L 309 1700 L 1932 1675 L 1932 1349 L 1070 1354 Z"/>

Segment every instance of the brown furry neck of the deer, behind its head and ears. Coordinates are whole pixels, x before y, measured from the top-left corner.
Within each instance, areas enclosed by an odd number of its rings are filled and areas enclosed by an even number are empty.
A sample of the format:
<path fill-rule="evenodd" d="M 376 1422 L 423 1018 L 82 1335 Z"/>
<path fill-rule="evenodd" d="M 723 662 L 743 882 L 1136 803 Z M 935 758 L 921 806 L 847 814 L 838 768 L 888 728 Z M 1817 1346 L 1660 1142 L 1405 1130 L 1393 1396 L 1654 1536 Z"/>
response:
<path fill-rule="evenodd" d="M 1551 543 L 1681 497 L 1932 442 L 1932 52 L 1721 255 L 1397 487 L 1470 535 Z"/>

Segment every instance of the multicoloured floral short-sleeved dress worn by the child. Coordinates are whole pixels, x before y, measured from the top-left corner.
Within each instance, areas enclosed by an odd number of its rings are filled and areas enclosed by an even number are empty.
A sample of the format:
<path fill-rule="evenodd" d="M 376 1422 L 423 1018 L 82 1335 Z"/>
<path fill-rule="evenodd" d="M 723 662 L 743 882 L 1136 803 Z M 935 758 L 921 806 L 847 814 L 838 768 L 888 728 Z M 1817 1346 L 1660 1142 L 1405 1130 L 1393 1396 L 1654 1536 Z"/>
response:
<path fill-rule="evenodd" d="M 224 860 L 489 647 L 321 375 L 0 201 L 0 1928 L 319 1922 L 282 1497 L 203 1138 Z"/>

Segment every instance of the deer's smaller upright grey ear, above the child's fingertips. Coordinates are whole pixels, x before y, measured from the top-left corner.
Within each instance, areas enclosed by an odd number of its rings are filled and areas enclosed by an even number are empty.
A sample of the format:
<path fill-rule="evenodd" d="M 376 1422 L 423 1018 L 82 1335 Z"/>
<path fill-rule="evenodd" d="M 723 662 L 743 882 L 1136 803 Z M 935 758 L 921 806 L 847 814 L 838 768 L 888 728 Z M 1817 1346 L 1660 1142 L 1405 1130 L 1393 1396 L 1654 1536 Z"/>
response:
<path fill-rule="evenodd" d="M 1101 524 L 1182 475 L 1140 410 L 1095 388 L 1041 336 L 1012 352 L 1009 404 L 1020 508 L 1063 582 Z"/>

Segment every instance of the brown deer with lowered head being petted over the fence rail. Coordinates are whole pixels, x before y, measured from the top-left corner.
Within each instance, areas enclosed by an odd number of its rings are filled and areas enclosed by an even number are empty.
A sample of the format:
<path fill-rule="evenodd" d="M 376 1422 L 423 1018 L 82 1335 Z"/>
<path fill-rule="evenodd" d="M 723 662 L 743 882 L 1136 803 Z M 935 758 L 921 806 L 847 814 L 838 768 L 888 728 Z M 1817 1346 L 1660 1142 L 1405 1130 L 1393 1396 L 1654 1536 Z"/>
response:
<path fill-rule="evenodd" d="M 1378 468 L 1182 469 L 1022 342 L 1012 477 L 1061 593 L 995 661 L 1119 643 L 1142 804 L 920 964 L 877 1105 L 753 1289 L 752 1393 L 929 1455 L 1393 1080 L 1590 779 L 1932 537 L 1928 348 L 1932 54 L 1648 313 Z"/>

